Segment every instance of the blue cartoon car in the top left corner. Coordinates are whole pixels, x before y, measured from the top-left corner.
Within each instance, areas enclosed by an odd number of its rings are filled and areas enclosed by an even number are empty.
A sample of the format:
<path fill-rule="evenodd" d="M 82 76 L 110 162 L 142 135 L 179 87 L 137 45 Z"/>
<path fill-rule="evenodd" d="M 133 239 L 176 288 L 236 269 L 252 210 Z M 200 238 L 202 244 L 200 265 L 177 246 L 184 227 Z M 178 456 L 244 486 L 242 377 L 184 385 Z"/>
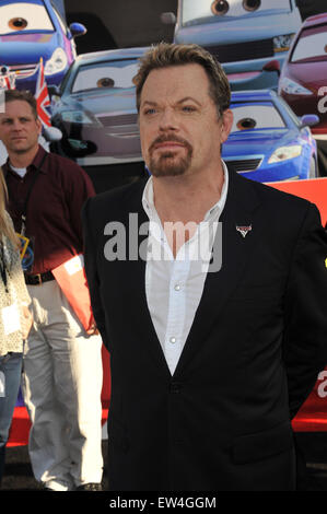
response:
<path fill-rule="evenodd" d="M 68 27 L 60 4 L 55 0 L 0 2 L 0 65 L 16 73 L 16 89 L 35 92 L 40 58 L 48 85 L 60 84 L 75 59 L 74 37 L 86 28 L 79 23 Z"/>

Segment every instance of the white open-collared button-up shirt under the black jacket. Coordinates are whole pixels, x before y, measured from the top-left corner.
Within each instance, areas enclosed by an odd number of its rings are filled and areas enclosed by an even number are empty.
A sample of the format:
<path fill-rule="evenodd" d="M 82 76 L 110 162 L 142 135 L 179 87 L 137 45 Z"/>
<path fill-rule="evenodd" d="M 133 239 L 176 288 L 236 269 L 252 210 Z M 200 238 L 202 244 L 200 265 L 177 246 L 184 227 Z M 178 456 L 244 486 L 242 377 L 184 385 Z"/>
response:
<path fill-rule="evenodd" d="M 150 220 L 145 268 L 147 302 L 172 375 L 201 300 L 213 238 L 227 196 L 229 172 L 225 163 L 222 164 L 224 184 L 221 197 L 197 225 L 192 237 L 179 248 L 176 258 L 154 207 L 152 177 L 143 191 L 142 203 Z"/>

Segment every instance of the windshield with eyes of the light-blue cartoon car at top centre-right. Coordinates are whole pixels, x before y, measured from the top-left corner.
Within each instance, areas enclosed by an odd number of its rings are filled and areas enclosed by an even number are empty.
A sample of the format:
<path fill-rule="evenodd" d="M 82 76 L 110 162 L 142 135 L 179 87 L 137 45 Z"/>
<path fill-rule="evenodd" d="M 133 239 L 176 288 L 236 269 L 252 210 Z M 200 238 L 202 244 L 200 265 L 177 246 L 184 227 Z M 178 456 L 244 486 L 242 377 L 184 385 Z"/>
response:
<path fill-rule="evenodd" d="M 289 2 L 285 0 L 261 0 L 253 1 L 253 8 L 245 8 L 241 0 L 212 1 L 212 0 L 184 0 L 182 24 L 196 24 L 212 21 L 217 22 L 219 15 L 222 19 L 250 16 L 254 13 L 272 10 L 290 10 Z"/>

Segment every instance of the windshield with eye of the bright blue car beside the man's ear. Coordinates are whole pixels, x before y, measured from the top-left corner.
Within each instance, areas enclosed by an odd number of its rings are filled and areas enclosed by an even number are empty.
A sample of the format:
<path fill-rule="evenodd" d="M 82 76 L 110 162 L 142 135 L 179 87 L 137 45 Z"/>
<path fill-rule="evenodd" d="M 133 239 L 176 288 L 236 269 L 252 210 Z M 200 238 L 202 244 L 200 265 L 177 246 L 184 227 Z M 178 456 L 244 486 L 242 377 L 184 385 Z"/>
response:
<path fill-rule="evenodd" d="M 232 132 L 252 129 L 279 129 L 285 124 L 271 103 L 252 105 L 238 104 L 231 106 L 234 114 Z"/>

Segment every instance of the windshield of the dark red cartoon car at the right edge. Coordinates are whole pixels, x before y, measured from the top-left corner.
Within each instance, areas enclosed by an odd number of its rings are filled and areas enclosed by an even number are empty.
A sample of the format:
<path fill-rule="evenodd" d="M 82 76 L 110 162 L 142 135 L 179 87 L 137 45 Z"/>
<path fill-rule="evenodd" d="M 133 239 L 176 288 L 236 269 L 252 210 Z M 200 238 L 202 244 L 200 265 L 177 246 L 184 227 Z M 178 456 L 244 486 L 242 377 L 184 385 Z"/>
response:
<path fill-rule="evenodd" d="M 305 28 L 293 50 L 291 62 L 327 59 L 327 25 Z"/>

